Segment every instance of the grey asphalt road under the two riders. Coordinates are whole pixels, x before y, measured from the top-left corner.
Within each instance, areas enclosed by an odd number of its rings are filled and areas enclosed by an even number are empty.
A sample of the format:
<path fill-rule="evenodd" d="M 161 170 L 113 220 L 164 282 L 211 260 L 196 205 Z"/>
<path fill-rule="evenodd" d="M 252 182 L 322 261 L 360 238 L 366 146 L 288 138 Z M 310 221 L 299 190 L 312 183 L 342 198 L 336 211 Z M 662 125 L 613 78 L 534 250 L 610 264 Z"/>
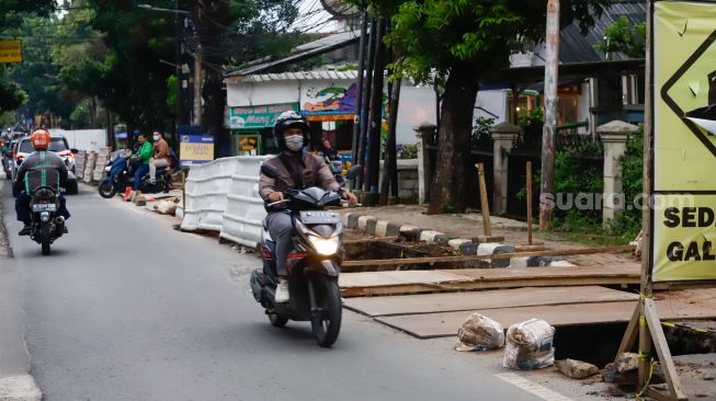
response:
<path fill-rule="evenodd" d="M 496 378 L 499 357 L 350 311 L 330 350 L 308 323 L 272 328 L 249 291 L 255 256 L 92 190 L 69 197 L 70 232 L 49 257 L 5 218 L 14 260 L 0 263 L 19 272 L 30 371 L 45 400 L 538 399 Z M 11 211 L 9 185 L 2 193 Z"/>

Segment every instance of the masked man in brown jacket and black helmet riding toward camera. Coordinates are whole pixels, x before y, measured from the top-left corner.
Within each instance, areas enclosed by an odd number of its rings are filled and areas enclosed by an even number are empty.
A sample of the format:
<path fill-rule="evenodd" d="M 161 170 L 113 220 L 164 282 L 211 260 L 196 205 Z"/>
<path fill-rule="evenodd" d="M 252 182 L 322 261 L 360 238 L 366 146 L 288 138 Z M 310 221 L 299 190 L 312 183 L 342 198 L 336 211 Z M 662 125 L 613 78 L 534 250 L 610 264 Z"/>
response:
<path fill-rule="evenodd" d="M 317 156 L 303 152 L 304 146 L 309 141 L 309 134 L 308 122 L 296 112 L 284 112 L 276 118 L 273 137 L 281 153 L 266 160 L 265 164 L 277 169 L 282 174 L 277 179 L 261 174 L 259 193 L 268 204 L 283 200 L 283 193 L 287 190 L 309 186 L 319 186 L 326 191 L 340 190 L 340 185 L 336 182 L 333 174 L 323 160 Z M 350 192 L 345 192 L 343 197 L 349 200 L 351 206 L 357 203 L 355 195 Z M 277 303 L 288 302 L 286 259 L 292 248 L 293 224 L 291 215 L 285 211 L 284 205 L 273 206 L 269 209 L 266 224 L 271 238 L 276 242 L 279 286 L 276 287 L 275 301 Z"/>

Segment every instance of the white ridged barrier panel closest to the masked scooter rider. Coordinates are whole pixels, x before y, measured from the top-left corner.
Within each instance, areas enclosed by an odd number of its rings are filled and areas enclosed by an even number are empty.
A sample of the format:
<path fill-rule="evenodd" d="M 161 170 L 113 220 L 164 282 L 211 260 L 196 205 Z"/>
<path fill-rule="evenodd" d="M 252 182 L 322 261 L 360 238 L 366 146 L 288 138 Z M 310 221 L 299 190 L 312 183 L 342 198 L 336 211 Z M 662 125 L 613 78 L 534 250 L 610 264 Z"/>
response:
<path fill-rule="evenodd" d="M 255 248 L 261 241 L 262 220 L 266 211 L 259 195 L 259 172 L 261 163 L 269 158 L 238 157 L 219 237 L 249 248 Z"/>

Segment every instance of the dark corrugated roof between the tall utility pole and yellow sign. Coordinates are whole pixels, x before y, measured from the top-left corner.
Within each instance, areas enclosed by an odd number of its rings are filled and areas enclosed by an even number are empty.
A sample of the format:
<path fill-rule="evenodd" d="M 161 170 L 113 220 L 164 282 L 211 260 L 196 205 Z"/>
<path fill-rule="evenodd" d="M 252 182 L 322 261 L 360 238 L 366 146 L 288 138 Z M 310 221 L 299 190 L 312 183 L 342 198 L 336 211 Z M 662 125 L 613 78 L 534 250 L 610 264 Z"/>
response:
<path fill-rule="evenodd" d="M 594 49 L 594 45 L 604 37 L 604 30 L 615 23 L 620 16 L 626 16 L 632 24 L 646 21 L 646 1 L 617 1 L 596 21 L 594 27 L 582 36 L 577 23 L 561 30 L 559 34 L 559 61 L 562 64 L 602 61 L 604 54 Z M 614 60 L 628 57 L 615 54 Z"/>

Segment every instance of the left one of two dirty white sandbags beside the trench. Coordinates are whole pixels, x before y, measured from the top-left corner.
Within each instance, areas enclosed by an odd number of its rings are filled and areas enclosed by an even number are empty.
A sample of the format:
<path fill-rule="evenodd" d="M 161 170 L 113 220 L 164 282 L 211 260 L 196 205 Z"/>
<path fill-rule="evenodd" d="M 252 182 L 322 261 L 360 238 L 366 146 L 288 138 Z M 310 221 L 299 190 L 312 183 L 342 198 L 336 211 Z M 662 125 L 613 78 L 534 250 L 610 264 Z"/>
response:
<path fill-rule="evenodd" d="M 502 324 L 480 314 L 471 313 L 457 330 L 456 351 L 489 351 L 504 346 Z"/>

